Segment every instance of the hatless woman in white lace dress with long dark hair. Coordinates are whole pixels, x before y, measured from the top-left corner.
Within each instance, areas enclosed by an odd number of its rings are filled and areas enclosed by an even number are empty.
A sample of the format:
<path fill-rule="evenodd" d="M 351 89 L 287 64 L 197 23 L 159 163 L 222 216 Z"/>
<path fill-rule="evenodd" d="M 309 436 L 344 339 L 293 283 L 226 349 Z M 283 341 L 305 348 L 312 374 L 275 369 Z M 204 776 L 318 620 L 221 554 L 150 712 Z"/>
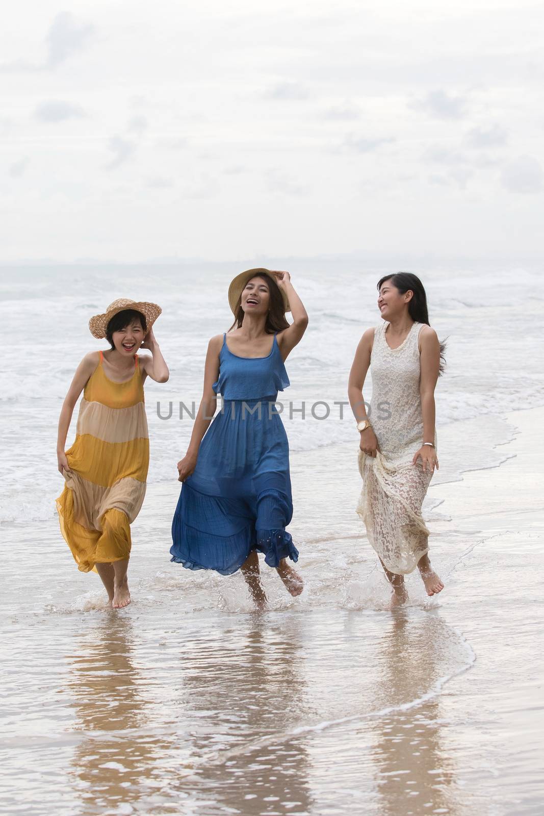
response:
<path fill-rule="evenodd" d="M 357 512 L 393 588 L 391 606 L 407 599 L 404 575 L 416 566 L 427 595 L 444 584 L 428 557 L 429 531 L 422 502 L 435 468 L 435 387 L 442 350 L 429 326 L 422 282 L 409 273 L 378 283 L 382 324 L 360 339 L 350 372 L 348 396 L 360 431 L 363 478 Z M 372 376 L 365 409 L 363 385 Z"/>

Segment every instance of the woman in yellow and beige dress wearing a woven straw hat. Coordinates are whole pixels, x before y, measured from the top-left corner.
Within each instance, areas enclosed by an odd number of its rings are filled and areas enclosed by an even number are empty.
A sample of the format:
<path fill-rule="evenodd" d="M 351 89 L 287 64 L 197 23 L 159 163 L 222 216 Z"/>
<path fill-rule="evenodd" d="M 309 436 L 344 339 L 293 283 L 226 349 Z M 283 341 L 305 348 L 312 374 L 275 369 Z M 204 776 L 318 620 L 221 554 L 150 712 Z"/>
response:
<path fill-rule="evenodd" d="M 169 377 L 153 335 L 160 314 L 157 304 L 122 298 L 91 317 L 91 334 L 108 339 L 111 348 L 83 357 L 60 411 L 60 530 L 78 569 L 98 572 L 114 609 L 130 604 L 130 523 L 144 502 L 148 475 L 144 380 L 166 383 Z M 139 348 L 148 348 L 151 357 L 139 357 Z M 64 451 L 81 392 L 76 440 Z"/>

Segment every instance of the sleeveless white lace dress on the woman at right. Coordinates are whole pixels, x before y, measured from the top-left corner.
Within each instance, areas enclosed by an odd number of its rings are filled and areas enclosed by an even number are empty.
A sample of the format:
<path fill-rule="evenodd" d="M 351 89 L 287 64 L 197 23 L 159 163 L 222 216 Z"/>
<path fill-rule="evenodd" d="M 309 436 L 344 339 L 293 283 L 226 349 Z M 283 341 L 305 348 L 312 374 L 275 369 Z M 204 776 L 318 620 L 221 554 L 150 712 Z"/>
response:
<path fill-rule="evenodd" d="M 388 325 L 374 329 L 370 357 L 369 419 L 381 452 L 374 459 L 359 451 L 363 488 L 356 509 L 387 570 L 409 574 L 429 549 L 421 508 L 432 473 L 412 464 L 423 442 L 418 338 L 424 324 L 414 323 L 398 348 L 387 345 Z"/>

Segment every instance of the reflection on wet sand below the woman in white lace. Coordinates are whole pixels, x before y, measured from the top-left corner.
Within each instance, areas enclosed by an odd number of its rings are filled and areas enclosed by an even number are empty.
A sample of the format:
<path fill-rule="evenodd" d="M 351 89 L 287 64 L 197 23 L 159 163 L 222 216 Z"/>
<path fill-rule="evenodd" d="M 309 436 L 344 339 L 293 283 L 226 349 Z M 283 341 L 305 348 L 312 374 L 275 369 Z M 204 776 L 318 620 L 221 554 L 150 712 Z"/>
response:
<path fill-rule="evenodd" d="M 382 639 L 383 685 L 391 706 L 426 694 L 447 669 L 444 639 L 450 632 L 435 614 L 414 619 L 399 610 L 391 616 Z M 453 761 L 440 744 L 439 699 L 431 699 L 422 709 L 387 716 L 373 725 L 373 731 L 381 816 L 466 812 L 455 785 Z"/>

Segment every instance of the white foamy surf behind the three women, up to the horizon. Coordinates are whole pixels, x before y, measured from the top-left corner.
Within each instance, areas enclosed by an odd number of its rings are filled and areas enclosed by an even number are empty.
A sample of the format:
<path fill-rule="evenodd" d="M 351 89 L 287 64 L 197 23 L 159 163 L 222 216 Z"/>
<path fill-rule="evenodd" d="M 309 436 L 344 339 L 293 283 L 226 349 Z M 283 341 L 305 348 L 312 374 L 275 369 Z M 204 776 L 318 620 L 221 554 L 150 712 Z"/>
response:
<path fill-rule="evenodd" d="M 307 304 L 310 325 L 286 362 L 291 388 L 280 392 L 283 421 L 296 453 L 348 444 L 353 420 L 346 401 L 347 375 L 363 330 L 380 318 L 375 306 L 377 274 L 352 262 L 308 262 L 293 268 L 293 280 Z M 330 286 L 334 270 L 335 286 Z M 198 405 L 204 358 L 211 335 L 227 330 L 232 314 L 226 304 L 228 281 L 236 268 L 220 265 L 191 268 L 2 268 L 4 333 L 10 338 L 2 379 L 0 523 L 45 521 L 55 512 L 55 495 L 63 481 L 56 470 L 56 425 L 60 407 L 83 354 L 107 348 L 87 328 L 89 317 L 109 300 L 128 295 L 157 300 L 163 314 L 157 338 L 170 365 L 170 381 L 146 384 L 151 437 L 148 483 L 177 477 L 192 420 L 179 419 L 179 402 Z M 206 275 L 206 277 L 201 277 Z M 534 354 L 542 334 L 542 298 L 537 273 L 524 277 L 531 299 L 512 297 L 512 274 L 504 271 L 421 272 L 427 286 L 431 323 L 448 339 L 447 371 L 436 391 L 440 474 L 458 478 L 463 470 L 498 464 L 496 446 L 511 438 L 501 422 L 504 410 L 544 404 L 544 361 Z M 206 282 L 203 305 L 202 287 Z M 341 295 L 348 287 L 349 298 Z M 356 296 L 352 296 L 356 295 Z M 365 388 L 369 401 L 370 388 Z M 173 415 L 167 415 L 170 401 Z M 325 401 L 327 419 L 312 417 L 312 406 Z M 290 403 L 294 418 L 289 418 Z M 306 419 L 297 413 L 306 407 Z M 316 406 L 316 414 L 325 412 Z M 67 444 L 75 433 L 77 409 Z M 455 426 L 458 425 L 456 429 Z M 7 431 L 7 432 L 6 432 Z M 332 450 L 323 455 L 334 456 Z"/>

